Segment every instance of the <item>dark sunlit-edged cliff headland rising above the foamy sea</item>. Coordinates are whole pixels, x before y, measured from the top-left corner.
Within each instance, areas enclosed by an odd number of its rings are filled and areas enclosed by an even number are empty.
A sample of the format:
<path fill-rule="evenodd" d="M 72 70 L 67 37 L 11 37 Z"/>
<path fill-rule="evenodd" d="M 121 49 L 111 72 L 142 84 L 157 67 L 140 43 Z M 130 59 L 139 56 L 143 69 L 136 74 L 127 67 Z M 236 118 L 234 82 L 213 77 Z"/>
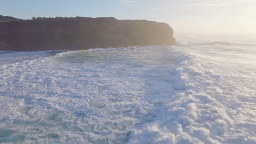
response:
<path fill-rule="evenodd" d="M 146 20 L 57 17 L 0 22 L 0 50 L 87 50 L 173 43 L 170 26 Z"/>

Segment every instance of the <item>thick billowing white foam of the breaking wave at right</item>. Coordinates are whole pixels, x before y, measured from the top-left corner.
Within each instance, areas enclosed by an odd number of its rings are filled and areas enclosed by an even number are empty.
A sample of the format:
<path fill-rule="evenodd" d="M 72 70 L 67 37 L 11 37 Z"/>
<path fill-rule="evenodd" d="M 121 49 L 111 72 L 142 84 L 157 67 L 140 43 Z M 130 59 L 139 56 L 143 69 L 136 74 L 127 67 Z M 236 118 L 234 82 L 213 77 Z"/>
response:
<path fill-rule="evenodd" d="M 195 55 L 176 62 L 170 93 L 158 117 L 130 143 L 254 143 L 255 76 Z"/>

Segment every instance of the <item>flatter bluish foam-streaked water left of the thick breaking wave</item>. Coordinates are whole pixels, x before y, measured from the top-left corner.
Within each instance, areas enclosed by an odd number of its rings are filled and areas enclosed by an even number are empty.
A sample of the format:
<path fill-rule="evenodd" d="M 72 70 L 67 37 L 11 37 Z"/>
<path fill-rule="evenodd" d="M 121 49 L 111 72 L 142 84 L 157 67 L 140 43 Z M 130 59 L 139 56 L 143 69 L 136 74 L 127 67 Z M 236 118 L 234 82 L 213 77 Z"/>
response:
<path fill-rule="evenodd" d="M 170 75 L 172 64 L 164 61 L 170 53 L 165 47 L 95 49 L 0 65 L 0 141 L 129 141 L 135 127 L 152 121 L 149 110 L 161 103 L 155 97 L 169 92 L 154 82 Z"/>

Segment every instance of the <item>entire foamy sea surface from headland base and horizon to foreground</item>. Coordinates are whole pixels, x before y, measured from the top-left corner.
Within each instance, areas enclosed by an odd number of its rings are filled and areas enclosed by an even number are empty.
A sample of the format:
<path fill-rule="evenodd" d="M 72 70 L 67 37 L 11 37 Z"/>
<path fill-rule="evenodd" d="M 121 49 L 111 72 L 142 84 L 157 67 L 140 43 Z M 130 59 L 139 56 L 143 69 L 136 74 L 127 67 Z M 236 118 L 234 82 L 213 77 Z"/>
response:
<path fill-rule="evenodd" d="M 0 143 L 256 143 L 254 37 L 0 51 Z"/>

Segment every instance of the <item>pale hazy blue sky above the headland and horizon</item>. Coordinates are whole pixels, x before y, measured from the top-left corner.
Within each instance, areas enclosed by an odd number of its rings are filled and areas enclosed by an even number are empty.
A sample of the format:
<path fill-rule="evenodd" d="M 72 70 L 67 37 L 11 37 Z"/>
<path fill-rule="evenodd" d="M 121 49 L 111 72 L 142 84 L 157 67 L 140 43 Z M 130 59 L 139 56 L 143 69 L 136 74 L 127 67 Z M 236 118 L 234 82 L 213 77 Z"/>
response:
<path fill-rule="evenodd" d="M 0 15 L 166 22 L 174 33 L 256 33 L 256 0 L 1 0 Z"/>

